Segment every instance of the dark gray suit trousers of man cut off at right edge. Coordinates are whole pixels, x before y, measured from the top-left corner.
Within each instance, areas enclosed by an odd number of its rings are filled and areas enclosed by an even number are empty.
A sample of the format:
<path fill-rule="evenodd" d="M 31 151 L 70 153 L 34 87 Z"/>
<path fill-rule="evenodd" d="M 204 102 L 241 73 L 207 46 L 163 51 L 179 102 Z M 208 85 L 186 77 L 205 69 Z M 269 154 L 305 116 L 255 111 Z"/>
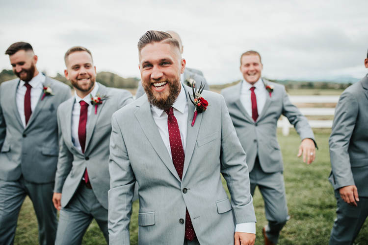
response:
<path fill-rule="evenodd" d="M 368 216 L 368 198 L 359 197 L 358 206 L 351 206 L 335 191 L 337 218 L 331 230 L 330 245 L 351 245 Z"/>

